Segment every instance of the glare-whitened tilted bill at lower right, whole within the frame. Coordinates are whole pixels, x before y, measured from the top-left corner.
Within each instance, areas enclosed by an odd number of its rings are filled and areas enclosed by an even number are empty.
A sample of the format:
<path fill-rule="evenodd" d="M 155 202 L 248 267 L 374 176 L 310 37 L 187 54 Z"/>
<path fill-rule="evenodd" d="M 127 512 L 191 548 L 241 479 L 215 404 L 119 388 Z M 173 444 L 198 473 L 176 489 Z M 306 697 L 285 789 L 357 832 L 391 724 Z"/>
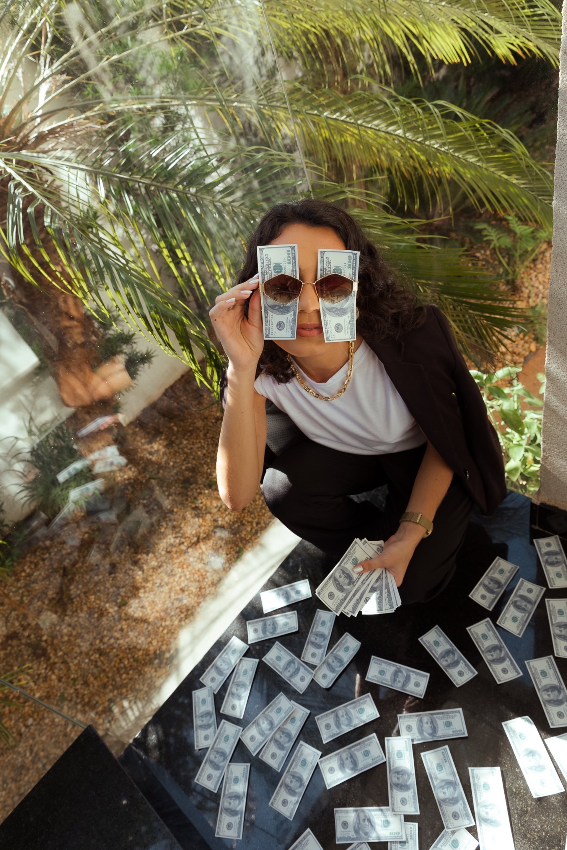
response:
<path fill-rule="evenodd" d="M 514 717 L 513 720 L 505 720 L 502 726 L 531 796 L 537 799 L 561 794 L 564 787 L 530 717 Z"/>

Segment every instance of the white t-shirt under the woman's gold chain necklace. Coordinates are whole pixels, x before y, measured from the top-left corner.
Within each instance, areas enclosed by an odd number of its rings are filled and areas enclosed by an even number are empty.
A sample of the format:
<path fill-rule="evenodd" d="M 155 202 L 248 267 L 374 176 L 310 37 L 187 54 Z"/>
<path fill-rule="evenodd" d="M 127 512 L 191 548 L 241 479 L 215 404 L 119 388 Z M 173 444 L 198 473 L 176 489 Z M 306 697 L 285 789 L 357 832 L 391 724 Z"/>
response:
<path fill-rule="evenodd" d="M 328 381 L 312 381 L 296 364 L 309 387 L 320 395 L 334 395 L 343 387 L 345 363 Z M 361 343 L 354 352 L 353 374 L 343 395 L 321 401 L 307 393 L 293 377 L 277 383 L 259 375 L 256 392 L 273 401 L 315 443 L 353 455 L 384 455 L 425 443 L 422 429 L 411 416 L 381 360 Z"/>

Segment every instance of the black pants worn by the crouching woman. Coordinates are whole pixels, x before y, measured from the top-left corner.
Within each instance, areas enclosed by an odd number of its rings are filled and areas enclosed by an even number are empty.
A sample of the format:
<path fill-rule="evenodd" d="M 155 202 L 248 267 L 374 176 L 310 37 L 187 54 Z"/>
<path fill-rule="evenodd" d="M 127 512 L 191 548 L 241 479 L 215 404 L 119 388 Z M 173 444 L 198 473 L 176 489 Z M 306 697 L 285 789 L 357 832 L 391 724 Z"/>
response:
<path fill-rule="evenodd" d="M 388 540 L 405 512 L 425 444 L 389 455 L 351 455 L 302 439 L 266 458 L 262 492 L 269 510 L 303 540 L 338 560 L 354 537 Z M 388 484 L 383 511 L 349 495 Z M 455 572 L 473 500 L 453 476 L 434 530 L 417 548 L 400 585 L 403 604 L 437 596 Z"/>

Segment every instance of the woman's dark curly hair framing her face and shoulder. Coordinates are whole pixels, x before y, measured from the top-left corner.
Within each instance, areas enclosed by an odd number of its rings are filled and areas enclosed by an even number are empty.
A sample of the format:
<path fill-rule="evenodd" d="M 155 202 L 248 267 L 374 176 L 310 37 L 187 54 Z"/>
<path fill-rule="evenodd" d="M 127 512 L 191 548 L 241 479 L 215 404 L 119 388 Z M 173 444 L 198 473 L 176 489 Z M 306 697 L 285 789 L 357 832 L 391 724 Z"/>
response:
<path fill-rule="evenodd" d="M 425 309 L 415 294 L 396 280 L 377 246 L 366 238 L 360 225 L 343 207 L 317 198 L 277 204 L 266 212 L 248 240 L 246 259 L 237 283 L 256 274 L 258 245 L 269 245 L 286 224 L 330 227 L 343 240 L 345 248 L 360 251 L 356 304 L 359 309 L 357 330 L 363 337 L 397 338 L 423 324 Z M 278 383 L 286 383 L 293 377 L 286 352 L 271 340 L 264 343 L 258 360 L 257 374 L 261 372 L 274 377 Z"/>

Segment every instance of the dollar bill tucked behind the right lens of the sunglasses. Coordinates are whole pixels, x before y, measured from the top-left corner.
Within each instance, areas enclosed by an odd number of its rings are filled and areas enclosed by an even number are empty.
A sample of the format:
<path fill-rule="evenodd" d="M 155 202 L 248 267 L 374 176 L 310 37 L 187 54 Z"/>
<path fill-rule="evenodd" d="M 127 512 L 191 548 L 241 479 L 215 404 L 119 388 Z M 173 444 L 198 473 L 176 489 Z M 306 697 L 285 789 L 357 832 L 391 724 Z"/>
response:
<path fill-rule="evenodd" d="M 343 275 L 358 280 L 360 251 L 335 251 L 320 248 L 318 277 Z M 356 292 L 336 304 L 319 299 L 321 324 L 326 343 L 356 339 Z"/>

